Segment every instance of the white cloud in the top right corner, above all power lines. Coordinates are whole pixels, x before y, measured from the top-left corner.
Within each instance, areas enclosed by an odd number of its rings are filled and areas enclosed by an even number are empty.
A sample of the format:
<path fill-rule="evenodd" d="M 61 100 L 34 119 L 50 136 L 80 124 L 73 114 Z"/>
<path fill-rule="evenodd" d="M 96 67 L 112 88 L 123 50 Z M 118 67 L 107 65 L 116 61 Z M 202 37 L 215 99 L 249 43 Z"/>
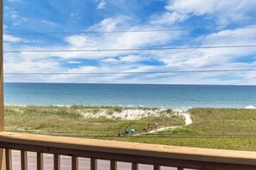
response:
<path fill-rule="evenodd" d="M 173 24 L 185 21 L 193 15 L 209 15 L 216 23 L 226 26 L 236 21 L 247 21 L 254 16 L 248 15 L 256 9 L 252 0 L 169 0 L 163 15 L 154 16 L 154 23 Z M 212 17 L 214 16 L 214 17 Z"/>

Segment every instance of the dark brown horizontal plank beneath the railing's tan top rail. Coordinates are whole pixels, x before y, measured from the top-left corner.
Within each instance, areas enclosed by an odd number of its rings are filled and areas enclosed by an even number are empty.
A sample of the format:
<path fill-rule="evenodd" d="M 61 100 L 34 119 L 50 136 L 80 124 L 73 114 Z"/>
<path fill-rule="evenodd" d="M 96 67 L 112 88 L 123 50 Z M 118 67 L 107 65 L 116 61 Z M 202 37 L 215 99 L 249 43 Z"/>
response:
<path fill-rule="evenodd" d="M 1 137 L 0 137 L 1 139 Z M 84 149 L 62 149 L 62 148 L 52 148 L 52 147 L 44 147 L 38 145 L 25 145 L 20 143 L 3 143 L 0 142 L 0 148 L 9 148 L 9 149 L 21 149 L 26 148 L 29 151 L 33 152 L 43 152 L 49 154 L 59 154 L 61 155 L 78 155 L 79 157 L 86 158 L 97 158 L 102 160 L 118 160 L 125 162 L 140 162 L 141 164 L 159 164 L 165 167 L 186 167 L 190 169 L 200 169 L 201 167 L 207 167 L 208 169 L 232 169 L 232 170 L 255 170 L 256 166 L 245 165 L 245 164 L 229 164 L 229 163 L 220 163 L 216 161 L 190 161 L 190 160 L 181 160 L 181 159 L 167 159 L 167 158 L 159 158 L 147 155 L 123 155 L 116 153 L 103 153 L 103 152 L 95 152 L 95 151 L 86 151 Z"/>

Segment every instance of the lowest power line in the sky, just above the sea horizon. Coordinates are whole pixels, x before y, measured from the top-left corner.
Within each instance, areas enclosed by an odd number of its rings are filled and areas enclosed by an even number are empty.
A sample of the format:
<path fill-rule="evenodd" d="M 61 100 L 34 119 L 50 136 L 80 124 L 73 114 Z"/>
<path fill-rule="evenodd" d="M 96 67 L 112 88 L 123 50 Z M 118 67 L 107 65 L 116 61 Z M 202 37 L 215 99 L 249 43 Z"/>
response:
<path fill-rule="evenodd" d="M 236 71 L 256 71 L 256 69 L 237 69 L 237 70 L 169 70 L 169 71 L 124 71 L 124 72 L 19 72 L 3 73 L 4 75 L 129 75 L 129 74 L 166 74 L 166 73 L 209 73 L 209 72 L 236 72 Z"/>

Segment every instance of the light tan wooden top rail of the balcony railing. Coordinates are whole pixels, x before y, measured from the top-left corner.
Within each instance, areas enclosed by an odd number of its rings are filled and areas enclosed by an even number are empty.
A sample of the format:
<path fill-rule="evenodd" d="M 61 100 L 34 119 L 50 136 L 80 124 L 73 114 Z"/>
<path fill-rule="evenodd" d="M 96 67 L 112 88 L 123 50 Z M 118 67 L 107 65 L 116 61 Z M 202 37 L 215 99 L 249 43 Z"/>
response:
<path fill-rule="evenodd" d="M 249 151 L 199 149 L 74 137 L 53 137 L 6 131 L 0 132 L 0 147 L 2 146 L 1 143 L 26 144 L 59 149 L 78 149 L 81 151 L 103 152 L 119 155 L 151 156 L 164 159 L 256 165 L 256 152 Z"/>

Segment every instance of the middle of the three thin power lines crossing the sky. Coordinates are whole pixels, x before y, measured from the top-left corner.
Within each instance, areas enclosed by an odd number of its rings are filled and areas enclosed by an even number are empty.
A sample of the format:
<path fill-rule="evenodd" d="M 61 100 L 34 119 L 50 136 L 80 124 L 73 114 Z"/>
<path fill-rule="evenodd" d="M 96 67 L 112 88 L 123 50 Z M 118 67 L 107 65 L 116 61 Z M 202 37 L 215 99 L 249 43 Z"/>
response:
<path fill-rule="evenodd" d="M 215 49 L 215 48 L 245 48 L 256 47 L 256 45 L 239 46 L 170 46 L 170 47 L 152 47 L 152 48 L 122 48 L 122 49 L 80 49 L 80 50 L 10 50 L 4 53 L 18 52 L 122 52 L 122 51 L 164 51 L 164 50 L 187 50 L 187 49 Z"/>

